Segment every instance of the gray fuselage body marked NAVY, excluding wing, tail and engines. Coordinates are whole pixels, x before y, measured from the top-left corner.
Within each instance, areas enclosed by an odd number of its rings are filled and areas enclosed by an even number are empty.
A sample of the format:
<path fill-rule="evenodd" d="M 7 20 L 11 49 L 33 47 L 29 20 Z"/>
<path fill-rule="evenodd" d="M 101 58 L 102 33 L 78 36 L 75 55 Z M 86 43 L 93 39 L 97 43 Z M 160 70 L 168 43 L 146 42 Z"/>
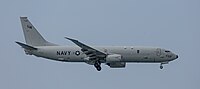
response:
<path fill-rule="evenodd" d="M 70 46 L 38 46 L 31 54 L 64 62 L 87 62 L 87 56 L 80 47 Z M 168 62 L 176 59 L 176 55 L 168 50 L 153 47 L 134 46 L 98 46 L 94 47 L 105 53 L 120 54 L 121 62 Z"/>

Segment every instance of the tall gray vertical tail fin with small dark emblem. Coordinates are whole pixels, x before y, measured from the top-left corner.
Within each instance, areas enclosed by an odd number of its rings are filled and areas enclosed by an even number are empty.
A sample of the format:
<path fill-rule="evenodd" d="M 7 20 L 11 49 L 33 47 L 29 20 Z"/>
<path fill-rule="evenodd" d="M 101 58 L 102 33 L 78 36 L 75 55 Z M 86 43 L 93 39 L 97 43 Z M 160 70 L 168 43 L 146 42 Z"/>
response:
<path fill-rule="evenodd" d="M 55 46 L 56 44 L 46 41 L 31 24 L 27 17 L 20 17 L 26 43 L 32 46 Z"/>

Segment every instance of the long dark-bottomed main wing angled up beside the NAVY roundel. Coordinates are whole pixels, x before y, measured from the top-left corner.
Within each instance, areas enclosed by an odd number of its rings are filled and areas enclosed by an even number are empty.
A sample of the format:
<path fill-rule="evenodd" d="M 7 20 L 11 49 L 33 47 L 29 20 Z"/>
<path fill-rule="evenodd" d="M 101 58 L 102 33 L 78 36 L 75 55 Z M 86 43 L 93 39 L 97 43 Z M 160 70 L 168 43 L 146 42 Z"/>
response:
<path fill-rule="evenodd" d="M 95 48 L 92 48 L 88 45 L 85 45 L 85 44 L 79 42 L 78 40 L 71 39 L 71 38 L 68 38 L 68 37 L 65 37 L 65 38 L 72 41 L 76 45 L 78 45 L 81 48 L 81 51 L 83 53 L 85 53 L 90 58 L 90 60 L 96 60 L 98 58 L 105 58 L 107 56 L 106 53 L 99 51 Z"/>

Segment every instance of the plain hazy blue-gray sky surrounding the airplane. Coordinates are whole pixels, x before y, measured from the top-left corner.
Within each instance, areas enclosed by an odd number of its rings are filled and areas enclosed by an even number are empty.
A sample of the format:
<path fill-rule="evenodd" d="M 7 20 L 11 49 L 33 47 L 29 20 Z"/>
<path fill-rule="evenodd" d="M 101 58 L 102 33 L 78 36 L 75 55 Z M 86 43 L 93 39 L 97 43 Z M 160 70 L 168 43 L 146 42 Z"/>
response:
<path fill-rule="evenodd" d="M 199 89 L 199 0 L 1 0 L 0 89 Z M 62 63 L 27 56 L 19 17 L 28 16 L 50 42 L 139 45 L 170 49 L 164 65 L 131 63 L 125 69 Z"/>

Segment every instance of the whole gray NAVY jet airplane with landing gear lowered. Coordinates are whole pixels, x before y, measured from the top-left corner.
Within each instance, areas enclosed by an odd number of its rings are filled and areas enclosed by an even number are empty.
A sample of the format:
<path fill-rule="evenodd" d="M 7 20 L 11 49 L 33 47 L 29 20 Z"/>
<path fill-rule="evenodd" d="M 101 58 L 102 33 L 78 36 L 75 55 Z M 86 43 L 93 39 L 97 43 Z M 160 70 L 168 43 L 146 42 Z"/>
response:
<path fill-rule="evenodd" d="M 104 63 L 110 68 L 124 68 L 126 63 L 160 63 L 163 64 L 178 58 L 169 50 L 158 47 L 136 46 L 88 46 L 76 39 L 65 37 L 77 46 L 60 46 L 46 41 L 27 17 L 20 17 L 25 43 L 16 42 L 27 55 L 48 58 L 62 62 L 85 62 L 100 71 Z"/>

